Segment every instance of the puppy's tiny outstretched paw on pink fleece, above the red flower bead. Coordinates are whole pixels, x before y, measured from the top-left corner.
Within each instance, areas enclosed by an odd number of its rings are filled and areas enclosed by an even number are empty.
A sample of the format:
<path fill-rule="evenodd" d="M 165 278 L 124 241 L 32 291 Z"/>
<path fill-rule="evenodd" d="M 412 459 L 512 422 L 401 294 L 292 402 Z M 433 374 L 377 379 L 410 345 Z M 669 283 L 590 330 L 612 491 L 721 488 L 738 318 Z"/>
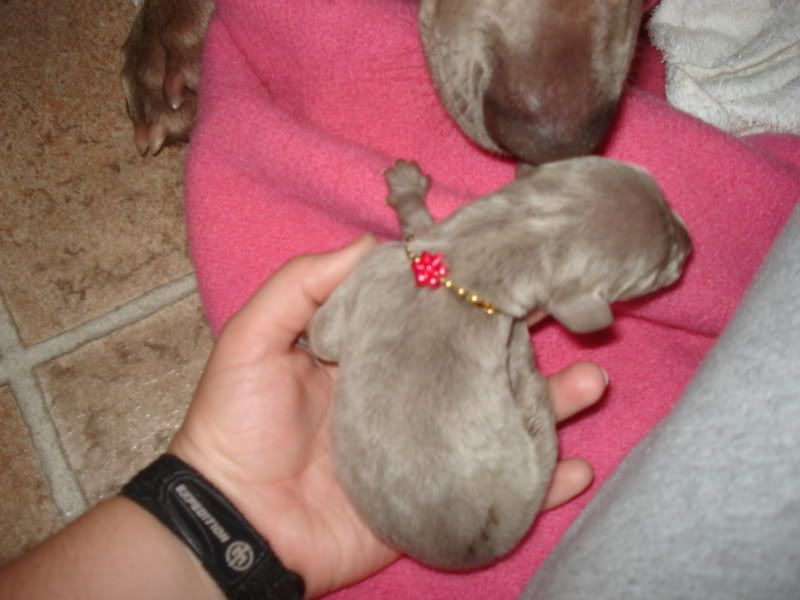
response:
<path fill-rule="evenodd" d="M 433 217 L 425 206 L 431 180 L 423 175 L 417 163 L 398 160 L 386 170 L 384 177 L 389 186 L 386 203 L 397 213 L 404 237 L 433 225 Z"/>

